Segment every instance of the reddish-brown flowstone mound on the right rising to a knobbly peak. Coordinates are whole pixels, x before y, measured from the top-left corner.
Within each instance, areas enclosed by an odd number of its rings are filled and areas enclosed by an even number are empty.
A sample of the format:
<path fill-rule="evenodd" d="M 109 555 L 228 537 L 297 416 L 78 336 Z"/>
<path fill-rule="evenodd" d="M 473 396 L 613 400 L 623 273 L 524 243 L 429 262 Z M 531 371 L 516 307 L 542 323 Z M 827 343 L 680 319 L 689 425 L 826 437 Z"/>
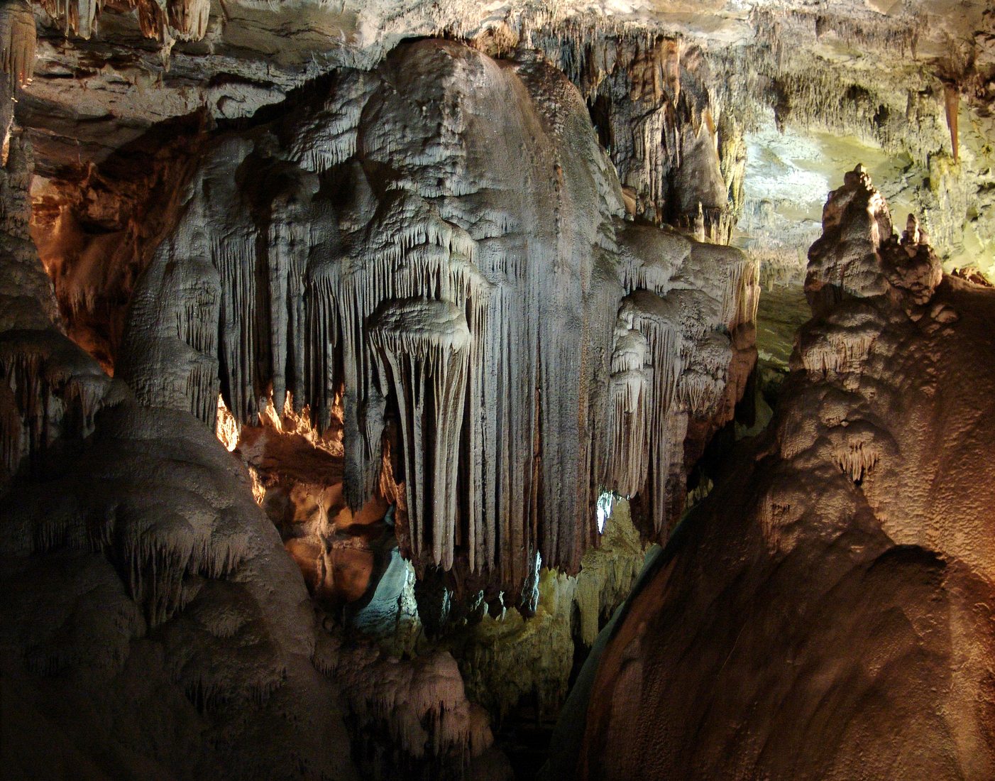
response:
<path fill-rule="evenodd" d="M 601 658 L 582 778 L 988 778 L 995 292 L 830 195 L 768 433 Z"/>

